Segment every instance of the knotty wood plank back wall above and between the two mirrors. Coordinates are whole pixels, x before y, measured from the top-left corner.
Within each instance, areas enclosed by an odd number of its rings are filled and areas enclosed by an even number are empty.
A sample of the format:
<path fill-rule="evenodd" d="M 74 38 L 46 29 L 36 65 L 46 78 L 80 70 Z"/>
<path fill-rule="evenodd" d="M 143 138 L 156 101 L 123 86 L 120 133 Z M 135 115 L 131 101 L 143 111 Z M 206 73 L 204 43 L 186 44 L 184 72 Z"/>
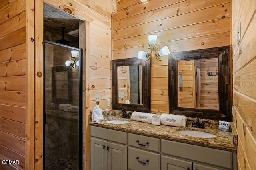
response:
<path fill-rule="evenodd" d="M 121 0 L 112 20 L 113 59 L 148 51 L 149 34 L 171 52 L 230 45 L 230 0 Z M 152 112 L 168 113 L 167 68 L 167 57 L 152 57 Z"/>

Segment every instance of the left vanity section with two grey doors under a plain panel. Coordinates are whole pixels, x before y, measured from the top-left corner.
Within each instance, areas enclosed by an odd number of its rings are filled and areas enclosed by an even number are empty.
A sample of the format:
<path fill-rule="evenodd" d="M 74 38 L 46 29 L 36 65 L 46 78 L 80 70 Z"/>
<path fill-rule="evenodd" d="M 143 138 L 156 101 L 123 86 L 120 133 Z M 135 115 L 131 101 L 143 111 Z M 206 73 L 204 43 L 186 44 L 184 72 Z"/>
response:
<path fill-rule="evenodd" d="M 127 170 L 126 137 L 126 132 L 91 126 L 90 169 Z"/>

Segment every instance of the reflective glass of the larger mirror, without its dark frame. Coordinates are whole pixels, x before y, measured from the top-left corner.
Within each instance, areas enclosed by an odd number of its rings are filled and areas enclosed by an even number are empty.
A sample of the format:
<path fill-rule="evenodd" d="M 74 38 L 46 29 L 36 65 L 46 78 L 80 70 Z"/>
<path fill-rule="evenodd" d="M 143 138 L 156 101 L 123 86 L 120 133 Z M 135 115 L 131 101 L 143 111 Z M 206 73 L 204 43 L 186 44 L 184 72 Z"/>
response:
<path fill-rule="evenodd" d="M 219 109 L 218 58 L 178 61 L 178 107 Z"/>

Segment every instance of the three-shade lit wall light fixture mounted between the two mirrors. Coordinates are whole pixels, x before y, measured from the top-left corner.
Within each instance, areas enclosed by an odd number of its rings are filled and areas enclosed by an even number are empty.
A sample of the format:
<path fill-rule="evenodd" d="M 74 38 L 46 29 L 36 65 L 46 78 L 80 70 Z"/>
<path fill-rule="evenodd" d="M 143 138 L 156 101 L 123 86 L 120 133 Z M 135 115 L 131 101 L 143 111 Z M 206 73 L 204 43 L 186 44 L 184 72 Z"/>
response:
<path fill-rule="evenodd" d="M 170 50 L 167 47 L 167 45 L 165 45 L 164 47 L 162 47 L 160 49 L 160 45 L 158 43 L 156 43 L 156 39 L 157 39 L 157 35 L 148 35 L 148 49 L 150 49 L 150 53 L 147 53 L 145 51 L 139 51 L 138 52 L 138 58 L 139 59 L 147 59 L 146 61 L 148 61 L 150 59 L 150 57 L 153 54 L 156 56 L 156 59 L 158 60 L 162 60 L 160 58 L 160 56 L 164 56 L 164 55 L 169 55 L 170 54 Z"/>

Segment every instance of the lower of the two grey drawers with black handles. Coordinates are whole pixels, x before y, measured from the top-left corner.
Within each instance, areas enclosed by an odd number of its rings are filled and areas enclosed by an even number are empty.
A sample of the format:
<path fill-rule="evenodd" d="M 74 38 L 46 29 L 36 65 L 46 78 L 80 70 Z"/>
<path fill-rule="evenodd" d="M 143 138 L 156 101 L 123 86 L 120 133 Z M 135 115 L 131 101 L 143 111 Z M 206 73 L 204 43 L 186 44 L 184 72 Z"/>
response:
<path fill-rule="evenodd" d="M 148 160 L 148 162 L 147 162 Z M 141 162 L 139 162 L 141 161 Z M 144 164 L 144 163 L 145 164 Z M 128 147 L 128 169 L 159 170 L 160 155 L 133 147 Z"/>

